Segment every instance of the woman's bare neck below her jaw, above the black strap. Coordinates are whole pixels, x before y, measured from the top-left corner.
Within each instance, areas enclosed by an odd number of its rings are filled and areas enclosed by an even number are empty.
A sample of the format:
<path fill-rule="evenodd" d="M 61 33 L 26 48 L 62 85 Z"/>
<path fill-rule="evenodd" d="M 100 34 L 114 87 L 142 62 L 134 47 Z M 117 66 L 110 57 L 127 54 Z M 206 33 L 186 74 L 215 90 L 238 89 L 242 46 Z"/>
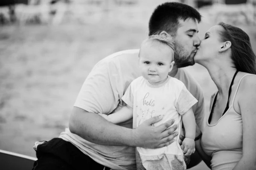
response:
<path fill-rule="evenodd" d="M 220 95 L 223 95 L 223 93 L 226 94 L 229 91 L 236 68 L 231 67 L 227 63 L 209 63 L 209 65 L 205 67 L 207 68 L 213 82 L 216 84 L 218 93 Z"/>

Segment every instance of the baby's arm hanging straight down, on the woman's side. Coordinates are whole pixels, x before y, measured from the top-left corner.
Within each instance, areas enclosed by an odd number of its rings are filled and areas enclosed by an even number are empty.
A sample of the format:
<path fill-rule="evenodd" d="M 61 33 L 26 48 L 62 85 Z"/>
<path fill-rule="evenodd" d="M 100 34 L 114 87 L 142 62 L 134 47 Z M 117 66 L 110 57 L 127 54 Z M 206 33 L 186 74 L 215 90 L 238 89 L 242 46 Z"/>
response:
<path fill-rule="evenodd" d="M 182 144 L 184 145 L 185 156 L 189 156 L 195 152 L 195 115 L 190 108 L 186 113 L 182 115 L 182 121 L 185 128 L 185 139 Z"/>

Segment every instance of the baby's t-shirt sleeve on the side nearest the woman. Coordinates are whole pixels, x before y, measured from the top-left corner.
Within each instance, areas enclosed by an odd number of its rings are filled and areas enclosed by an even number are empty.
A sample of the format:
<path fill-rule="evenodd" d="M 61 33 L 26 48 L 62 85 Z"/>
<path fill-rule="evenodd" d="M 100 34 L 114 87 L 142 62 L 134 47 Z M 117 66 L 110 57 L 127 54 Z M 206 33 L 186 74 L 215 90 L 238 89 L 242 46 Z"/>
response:
<path fill-rule="evenodd" d="M 180 115 L 186 113 L 198 100 L 183 85 L 176 102 L 176 109 Z"/>

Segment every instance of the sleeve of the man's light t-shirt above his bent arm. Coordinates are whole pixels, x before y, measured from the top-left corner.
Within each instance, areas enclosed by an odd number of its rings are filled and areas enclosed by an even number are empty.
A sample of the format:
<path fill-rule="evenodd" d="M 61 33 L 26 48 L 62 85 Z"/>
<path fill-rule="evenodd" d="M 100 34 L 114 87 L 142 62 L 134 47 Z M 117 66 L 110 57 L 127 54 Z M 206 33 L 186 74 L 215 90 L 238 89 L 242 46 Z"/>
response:
<path fill-rule="evenodd" d="M 111 60 L 99 61 L 84 81 L 74 106 L 87 112 L 111 113 L 119 104 L 117 73 Z"/>

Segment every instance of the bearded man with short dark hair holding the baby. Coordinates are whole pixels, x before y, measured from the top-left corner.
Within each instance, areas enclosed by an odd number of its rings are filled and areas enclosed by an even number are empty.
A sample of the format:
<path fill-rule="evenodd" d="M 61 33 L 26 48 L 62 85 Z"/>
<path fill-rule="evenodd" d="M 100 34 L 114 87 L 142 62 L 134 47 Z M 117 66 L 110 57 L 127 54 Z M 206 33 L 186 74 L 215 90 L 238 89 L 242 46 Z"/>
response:
<path fill-rule="evenodd" d="M 172 35 L 175 38 L 175 63 L 170 76 L 182 81 L 197 98 L 192 109 L 203 130 L 204 98 L 196 81 L 182 68 L 194 64 L 200 45 L 198 23 L 201 15 L 181 3 L 158 6 L 149 21 L 149 35 Z M 35 170 L 85 169 L 135 170 L 134 147 L 159 148 L 172 143 L 176 127 L 173 121 L 153 127 L 155 117 L 132 129 L 132 120 L 111 124 L 97 113 L 110 114 L 122 107 L 122 95 L 131 81 L 140 76 L 139 50 L 117 52 L 99 61 L 84 81 L 71 113 L 69 129 L 59 138 L 36 142 L 38 161 Z M 198 130 L 197 135 L 200 133 Z"/>

